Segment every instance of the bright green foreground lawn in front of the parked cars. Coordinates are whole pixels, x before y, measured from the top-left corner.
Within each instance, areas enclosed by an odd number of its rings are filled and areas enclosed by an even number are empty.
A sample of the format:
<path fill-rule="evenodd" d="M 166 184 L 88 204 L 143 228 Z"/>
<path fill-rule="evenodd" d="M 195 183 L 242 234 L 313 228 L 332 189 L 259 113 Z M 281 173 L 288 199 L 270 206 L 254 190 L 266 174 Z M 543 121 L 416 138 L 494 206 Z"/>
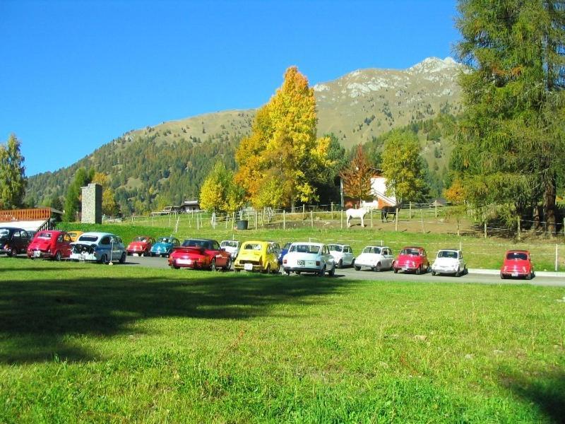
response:
<path fill-rule="evenodd" d="M 0 259 L 0 422 L 561 422 L 563 288 Z"/>

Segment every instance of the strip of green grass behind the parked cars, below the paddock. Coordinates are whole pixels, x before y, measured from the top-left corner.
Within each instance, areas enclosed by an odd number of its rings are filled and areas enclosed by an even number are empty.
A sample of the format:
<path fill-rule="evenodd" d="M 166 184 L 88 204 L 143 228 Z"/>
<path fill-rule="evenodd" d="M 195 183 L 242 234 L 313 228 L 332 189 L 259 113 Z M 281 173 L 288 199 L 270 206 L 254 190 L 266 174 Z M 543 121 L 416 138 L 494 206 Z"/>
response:
<path fill-rule="evenodd" d="M 186 219 L 186 216 L 184 217 Z M 160 217 L 163 220 L 163 217 Z M 162 221 L 164 225 L 164 221 Z M 186 237 L 210 237 L 218 241 L 235 240 L 276 240 L 281 243 L 300 240 L 311 240 L 317 242 L 346 243 L 353 247 L 353 252 L 359 254 L 367 245 L 388 245 L 393 252 L 398 253 L 403 246 L 419 245 L 427 249 L 430 259 L 435 257 L 438 249 L 458 248 L 463 249 L 469 268 L 499 269 L 507 249 L 530 249 L 532 259 L 537 271 L 555 270 L 555 243 L 559 243 L 559 271 L 565 271 L 565 246 L 562 237 L 556 241 L 529 240 L 528 242 L 513 242 L 501 238 L 480 238 L 472 236 L 458 237 L 455 234 L 442 234 L 436 232 L 395 232 L 393 223 L 388 224 L 392 230 L 383 231 L 371 228 L 351 229 L 339 228 L 292 228 L 282 229 L 258 229 L 246 231 L 226 230 L 224 225 L 218 225 L 215 230 L 209 227 L 189 228 L 186 225 L 179 226 L 178 237 L 182 241 Z M 162 237 L 171 235 L 173 228 L 157 226 L 131 225 L 124 222 L 121 224 L 86 225 L 75 223 L 60 223 L 58 228 L 65 230 L 104 230 L 120 235 L 124 243 L 130 242 L 136 235 L 152 235 Z"/>

